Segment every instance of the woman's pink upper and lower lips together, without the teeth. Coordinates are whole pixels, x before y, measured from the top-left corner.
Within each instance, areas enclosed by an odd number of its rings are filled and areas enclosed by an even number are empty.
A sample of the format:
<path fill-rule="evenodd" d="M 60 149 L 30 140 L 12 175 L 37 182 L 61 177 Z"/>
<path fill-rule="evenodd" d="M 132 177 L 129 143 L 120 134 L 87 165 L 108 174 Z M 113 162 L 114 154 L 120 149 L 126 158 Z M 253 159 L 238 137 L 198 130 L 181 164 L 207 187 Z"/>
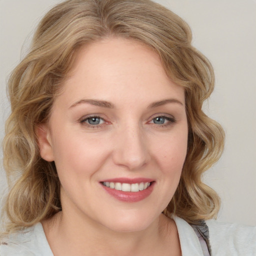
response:
<path fill-rule="evenodd" d="M 100 185 L 102 186 L 102 188 L 112 197 L 114 197 L 115 199 L 119 200 L 119 201 L 123 201 L 123 202 L 138 202 L 141 201 L 143 199 L 145 199 L 146 197 L 148 197 L 151 192 L 153 191 L 154 188 L 154 184 L 155 181 L 153 181 L 152 179 L 148 179 L 148 178 L 113 178 L 113 179 L 106 179 L 104 180 L 105 182 L 120 182 L 120 183 L 129 183 L 129 184 L 133 184 L 133 183 L 140 183 L 140 182 L 151 182 L 150 186 L 147 187 L 144 190 L 140 190 L 137 192 L 125 192 L 125 191 L 121 191 L 121 190 L 116 190 L 110 187 L 106 187 L 102 184 L 102 182 L 100 182 Z"/>

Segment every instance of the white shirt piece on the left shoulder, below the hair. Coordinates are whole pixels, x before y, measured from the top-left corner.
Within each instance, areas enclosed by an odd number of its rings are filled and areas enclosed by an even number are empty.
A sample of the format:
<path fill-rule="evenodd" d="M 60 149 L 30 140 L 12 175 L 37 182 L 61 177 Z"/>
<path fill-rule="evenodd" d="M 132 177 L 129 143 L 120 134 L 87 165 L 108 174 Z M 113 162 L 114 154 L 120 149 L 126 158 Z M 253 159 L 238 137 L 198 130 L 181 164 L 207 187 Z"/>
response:
<path fill-rule="evenodd" d="M 1 240 L 0 256 L 53 256 L 41 223 L 8 235 Z"/>

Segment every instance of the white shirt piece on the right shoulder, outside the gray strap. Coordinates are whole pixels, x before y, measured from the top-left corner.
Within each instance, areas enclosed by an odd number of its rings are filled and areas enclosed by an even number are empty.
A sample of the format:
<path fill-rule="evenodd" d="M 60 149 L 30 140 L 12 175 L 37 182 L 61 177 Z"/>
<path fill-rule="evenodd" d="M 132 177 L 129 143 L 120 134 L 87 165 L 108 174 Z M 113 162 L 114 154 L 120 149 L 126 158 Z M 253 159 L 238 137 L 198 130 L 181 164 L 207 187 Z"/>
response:
<path fill-rule="evenodd" d="M 206 220 L 213 255 L 256 255 L 256 227 Z"/>

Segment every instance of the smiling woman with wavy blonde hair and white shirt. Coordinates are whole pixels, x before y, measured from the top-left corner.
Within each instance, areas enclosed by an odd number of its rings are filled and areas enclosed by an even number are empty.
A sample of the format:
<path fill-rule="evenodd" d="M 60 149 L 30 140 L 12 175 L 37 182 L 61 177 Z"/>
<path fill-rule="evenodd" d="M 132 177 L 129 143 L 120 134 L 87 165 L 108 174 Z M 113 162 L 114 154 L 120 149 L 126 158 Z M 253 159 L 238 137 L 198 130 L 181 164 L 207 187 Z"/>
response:
<path fill-rule="evenodd" d="M 213 83 L 187 24 L 154 2 L 52 8 L 9 80 L 0 255 L 255 254 L 255 228 L 211 220 L 201 181 L 223 148 L 201 110 Z"/>

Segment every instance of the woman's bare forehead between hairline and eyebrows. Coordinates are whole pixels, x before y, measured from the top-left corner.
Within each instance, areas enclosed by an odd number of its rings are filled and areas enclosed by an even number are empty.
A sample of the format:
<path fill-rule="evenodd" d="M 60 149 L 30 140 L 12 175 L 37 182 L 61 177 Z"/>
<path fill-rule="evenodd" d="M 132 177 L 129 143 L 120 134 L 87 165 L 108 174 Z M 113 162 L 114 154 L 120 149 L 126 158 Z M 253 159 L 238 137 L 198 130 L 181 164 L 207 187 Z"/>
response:
<path fill-rule="evenodd" d="M 136 40 L 117 37 L 89 43 L 76 52 L 62 94 L 70 103 L 81 97 L 148 103 L 167 96 L 184 102 L 183 88 L 166 75 L 155 51 Z"/>

